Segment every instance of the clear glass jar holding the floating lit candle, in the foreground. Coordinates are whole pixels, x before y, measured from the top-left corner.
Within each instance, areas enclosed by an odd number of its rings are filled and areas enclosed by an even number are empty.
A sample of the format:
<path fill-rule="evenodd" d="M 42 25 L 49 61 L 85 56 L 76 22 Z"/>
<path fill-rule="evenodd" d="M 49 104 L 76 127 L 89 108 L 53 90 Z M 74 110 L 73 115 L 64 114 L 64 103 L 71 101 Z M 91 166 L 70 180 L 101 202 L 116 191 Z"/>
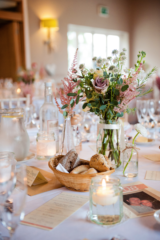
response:
<path fill-rule="evenodd" d="M 98 176 L 91 180 L 89 189 L 89 218 L 99 225 L 112 225 L 123 217 L 123 193 L 116 177 Z"/>

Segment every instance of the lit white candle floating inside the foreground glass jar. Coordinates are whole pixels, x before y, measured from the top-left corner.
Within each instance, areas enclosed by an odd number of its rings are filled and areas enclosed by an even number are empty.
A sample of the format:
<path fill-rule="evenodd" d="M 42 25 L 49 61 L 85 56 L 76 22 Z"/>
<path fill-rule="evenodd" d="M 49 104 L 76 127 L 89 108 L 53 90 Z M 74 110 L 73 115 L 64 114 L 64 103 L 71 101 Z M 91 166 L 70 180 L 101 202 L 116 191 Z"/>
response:
<path fill-rule="evenodd" d="M 115 204 L 118 201 L 118 196 L 115 196 L 114 190 L 107 186 L 106 180 L 103 179 L 102 186 L 93 193 L 92 200 L 96 204 L 106 206 Z"/>

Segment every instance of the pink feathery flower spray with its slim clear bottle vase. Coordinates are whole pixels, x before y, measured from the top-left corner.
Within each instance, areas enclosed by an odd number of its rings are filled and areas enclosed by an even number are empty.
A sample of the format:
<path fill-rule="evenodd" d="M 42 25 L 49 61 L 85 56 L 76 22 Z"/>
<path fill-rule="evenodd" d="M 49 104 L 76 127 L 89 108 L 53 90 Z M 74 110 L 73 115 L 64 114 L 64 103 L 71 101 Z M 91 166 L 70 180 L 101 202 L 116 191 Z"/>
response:
<path fill-rule="evenodd" d="M 71 116 L 76 104 L 84 99 L 83 95 L 80 94 L 82 92 L 81 89 L 77 88 L 81 82 L 78 80 L 77 74 L 77 52 L 78 49 L 76 50 L 72 66 L 68 71 L 67 77 L 62 80 L 63 90 L 57 89 L 60 96 L 61 106 L 58 103 L 56 96 L 54 97 L 59 112 L 64 116 L 61 154 L 67 153 L 74 148 Z"/>

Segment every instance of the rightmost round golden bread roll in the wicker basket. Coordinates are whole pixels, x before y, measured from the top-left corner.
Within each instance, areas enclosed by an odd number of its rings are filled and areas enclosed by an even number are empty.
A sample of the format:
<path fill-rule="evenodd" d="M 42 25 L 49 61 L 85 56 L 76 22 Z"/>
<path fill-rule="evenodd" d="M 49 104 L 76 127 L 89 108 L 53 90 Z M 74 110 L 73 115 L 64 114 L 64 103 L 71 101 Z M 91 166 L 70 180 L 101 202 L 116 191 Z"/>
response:
<path fill-rule="evenodd" d="M 99 172 L 105 172 L 110 170 L 111 167 L 111 163 L 108 161 L 109 161 L 108 158 L 104 157 L 102 154 L 95 154 L 91 157 L 89 166 L 91 168 L 95 168 Z"/>

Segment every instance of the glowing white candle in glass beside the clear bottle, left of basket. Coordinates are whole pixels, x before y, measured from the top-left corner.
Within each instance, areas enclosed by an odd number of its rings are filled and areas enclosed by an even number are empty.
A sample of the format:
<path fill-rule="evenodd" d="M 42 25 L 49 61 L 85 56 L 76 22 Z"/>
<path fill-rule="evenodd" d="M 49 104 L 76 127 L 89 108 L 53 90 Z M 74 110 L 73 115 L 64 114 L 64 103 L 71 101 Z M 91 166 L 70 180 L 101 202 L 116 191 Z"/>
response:
<path fill-rule="evenodd" d="M 37 155 L 54 156 L 56 154 L 56 141 L 38 140 Z"/>

